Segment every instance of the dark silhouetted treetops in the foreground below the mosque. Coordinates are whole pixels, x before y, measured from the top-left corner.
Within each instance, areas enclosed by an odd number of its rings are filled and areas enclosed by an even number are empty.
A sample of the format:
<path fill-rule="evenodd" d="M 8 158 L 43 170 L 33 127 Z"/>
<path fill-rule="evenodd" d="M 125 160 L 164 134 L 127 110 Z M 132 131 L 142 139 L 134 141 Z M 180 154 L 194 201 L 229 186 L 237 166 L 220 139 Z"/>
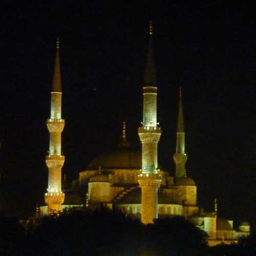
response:
<path fill-rule="evenodd" d="M 101 208 L 33 219 L 0 216 L 0 255 L 256 255 L 256 236 L 209 248 L 207 235 L 182 217 L 142 225 Z"/>

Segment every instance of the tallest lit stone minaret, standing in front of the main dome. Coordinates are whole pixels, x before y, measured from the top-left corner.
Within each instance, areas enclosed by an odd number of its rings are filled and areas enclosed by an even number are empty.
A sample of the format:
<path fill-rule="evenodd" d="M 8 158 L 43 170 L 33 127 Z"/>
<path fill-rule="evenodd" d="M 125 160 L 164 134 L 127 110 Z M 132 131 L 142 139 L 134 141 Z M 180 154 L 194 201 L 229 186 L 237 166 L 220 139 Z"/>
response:
<path fill-rule="evenodd" d="M 158 218 L 158 187 L 161 174 L 157 168 L 157 144 L 161 129 L 157 123 L 157 85 L 153 58 L 153 27 L 150 22 L 147 61 L 143 85 L 143 123 L 139 127 L 142 143 L 142 169 L 138 176 L 141 187 L 141 222 L 152 223 Z"/>

